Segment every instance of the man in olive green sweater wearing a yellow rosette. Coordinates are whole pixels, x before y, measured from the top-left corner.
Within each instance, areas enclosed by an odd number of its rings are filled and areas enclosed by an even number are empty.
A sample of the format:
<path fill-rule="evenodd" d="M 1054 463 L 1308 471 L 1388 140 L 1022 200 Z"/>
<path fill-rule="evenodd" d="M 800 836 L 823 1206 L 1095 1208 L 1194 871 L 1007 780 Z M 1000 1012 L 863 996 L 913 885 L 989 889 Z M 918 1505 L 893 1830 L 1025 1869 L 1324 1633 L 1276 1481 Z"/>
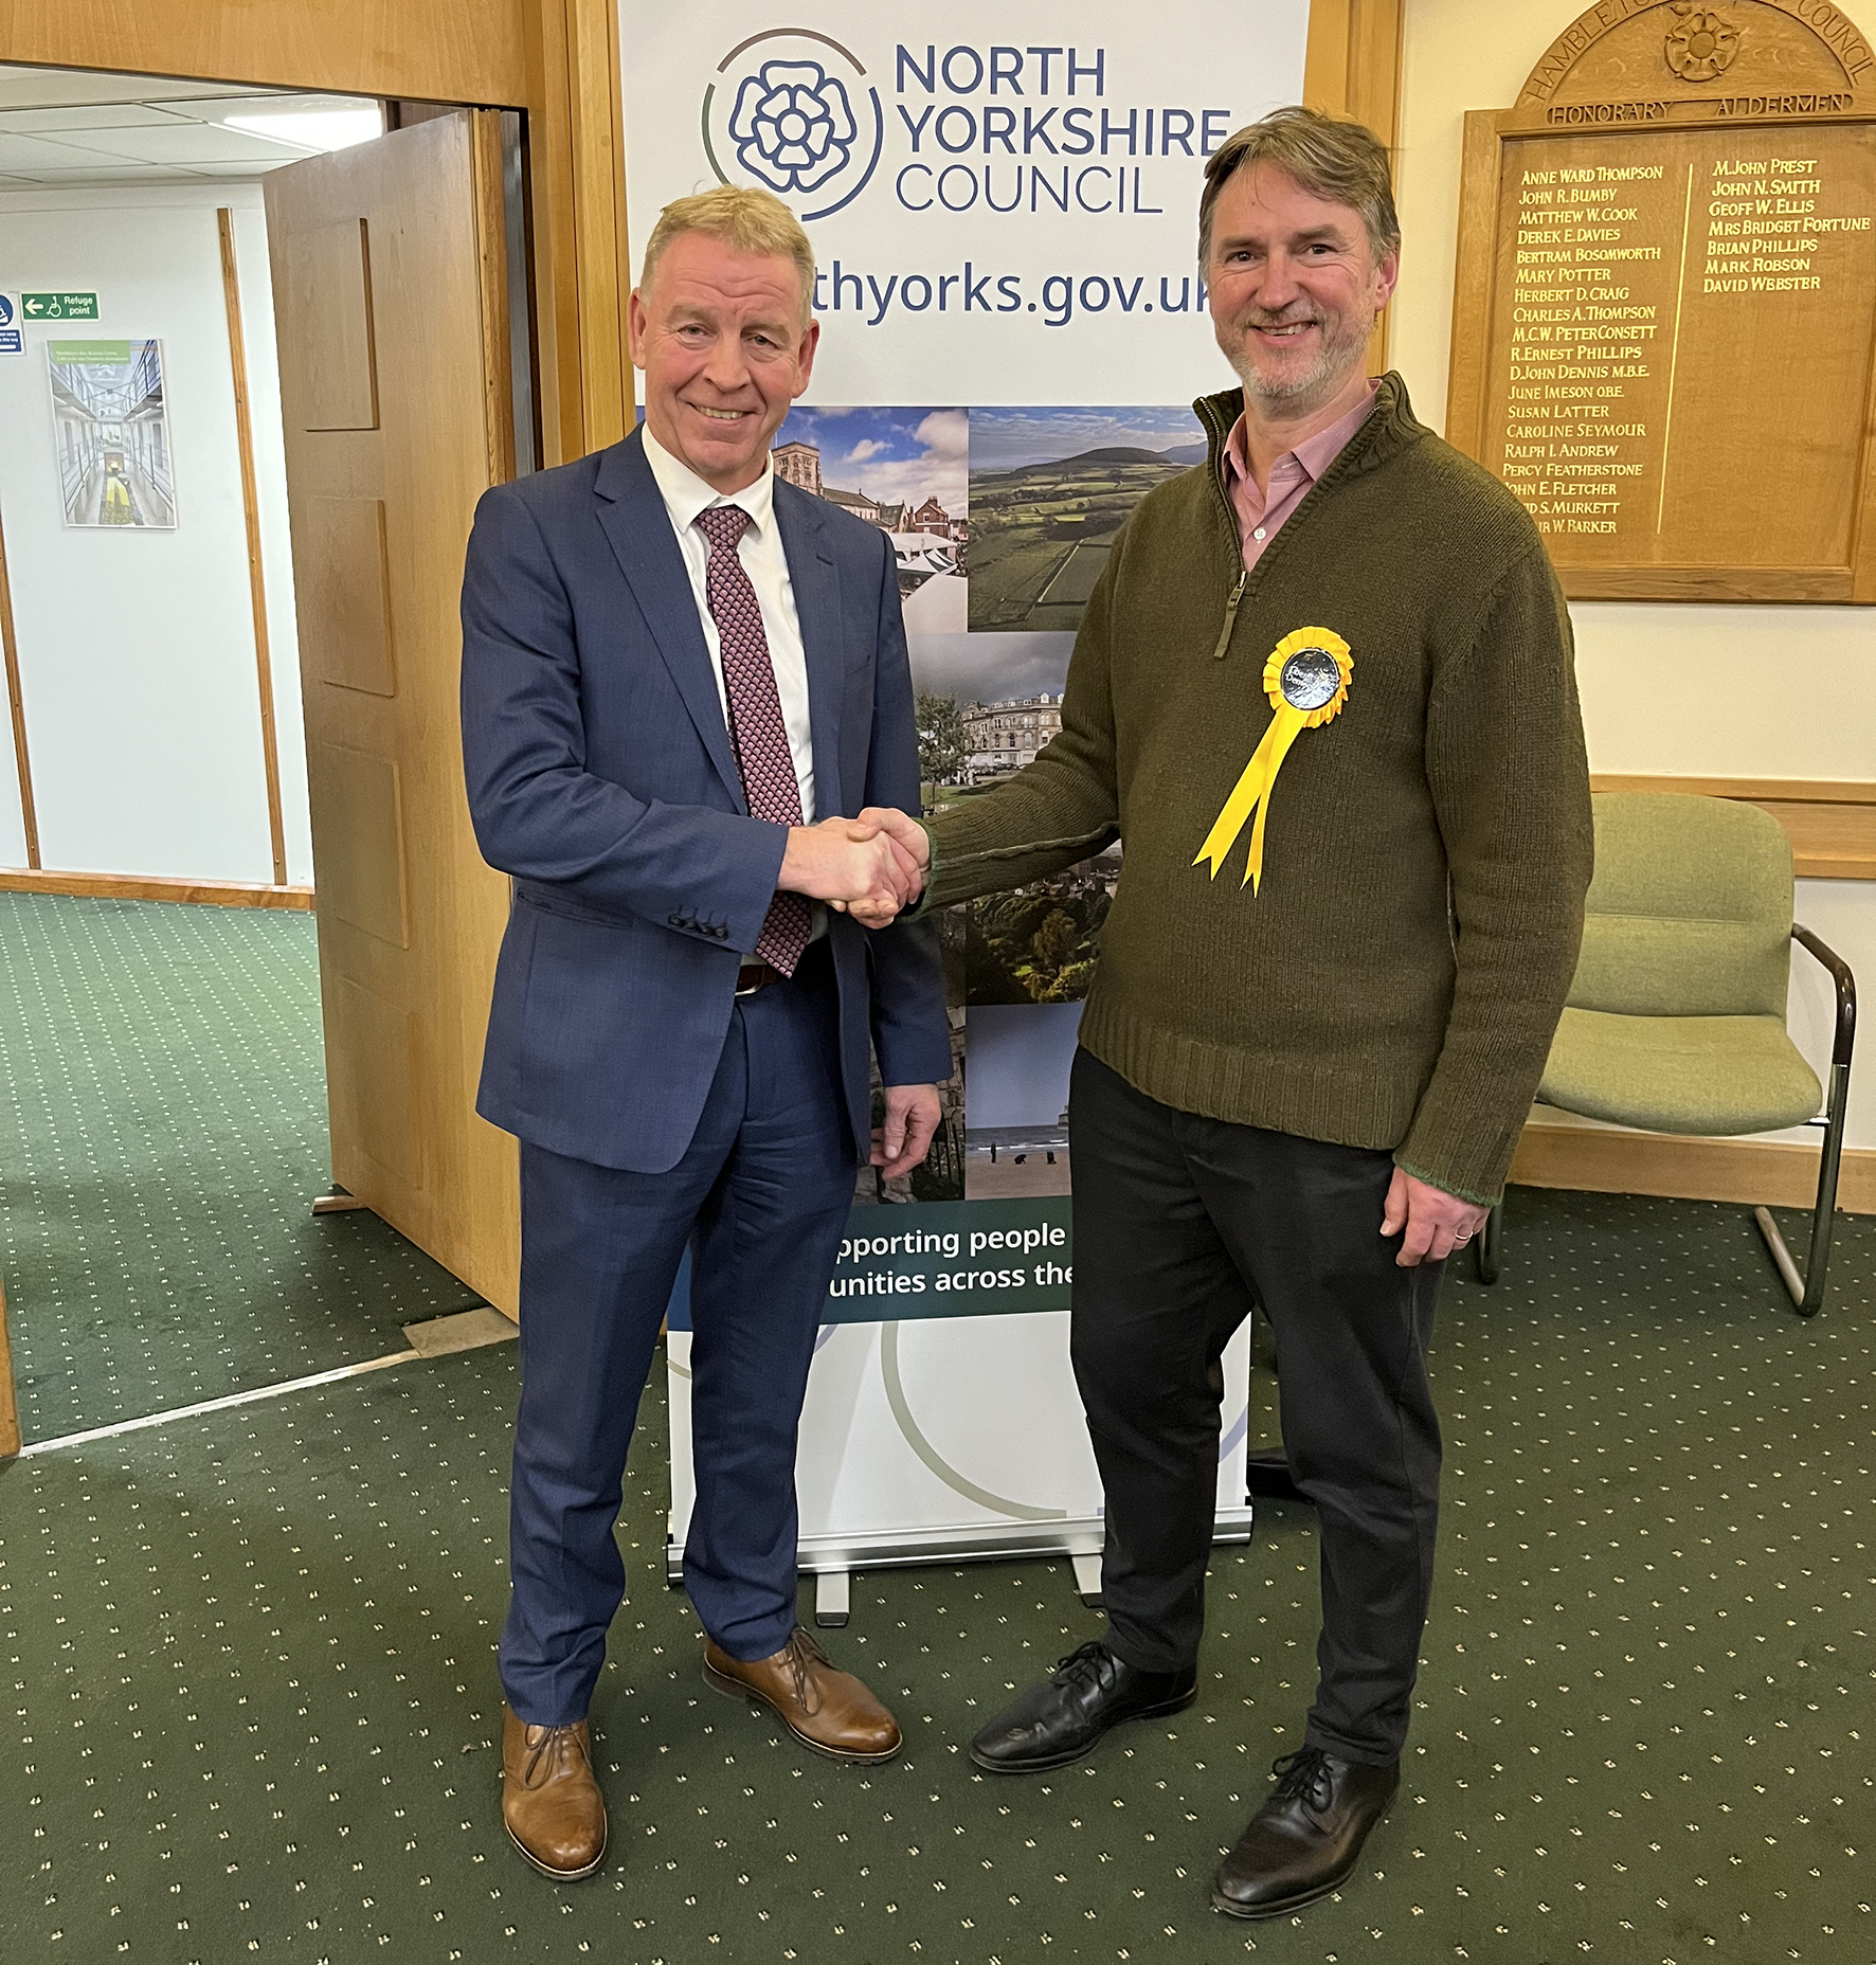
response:
<path fill-rule="evenodd" d="M 925 906 L 1124 841 L 1080 1024 L 1075 1376 L 1108 1633 L 970 1745 L 1084 1755 L 1196 1696 L 1220 1354 L 1259 1303 L 1322 1548 L 1302 1747 L 1212 1902 L 1338 1888 L 1399 1784 L 1434 1564 L 1426 1346 L 1564 1006 L 1589 884 L 1570 617 L 1538 531 L 1363 350 L 1395 285 L 1387 153 L 1279 110 L 1206 165 L 1200 263 L 1243 389 L 1088 601 L 1061 735 L 935 819 L 872 817 Z M 929 861 L 927 861 L 929 853 Z"/>

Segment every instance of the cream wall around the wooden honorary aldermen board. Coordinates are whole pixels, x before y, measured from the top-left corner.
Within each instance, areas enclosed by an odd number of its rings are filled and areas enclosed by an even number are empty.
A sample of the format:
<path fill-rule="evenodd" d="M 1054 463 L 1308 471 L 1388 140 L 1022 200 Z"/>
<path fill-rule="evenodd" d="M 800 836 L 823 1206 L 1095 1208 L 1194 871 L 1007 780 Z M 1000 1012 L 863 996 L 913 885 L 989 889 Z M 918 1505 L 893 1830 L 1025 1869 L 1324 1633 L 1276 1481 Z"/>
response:
<path fill-rule="evenodd" d="M 1446 426 L 1452 283 L 1465 110 L 1509 108 L 1581 0 L 1407 0 L 1399 204 L 1405 252 L 1391 360 L 1414 413 Z M 1866 28 L 1876 4 L 1845 8 Z M 1799 356 L 1801 358 L 1801 352 Z M 1742 395 L 1740 415 L 1752 415 Z M 1766 430 L 1768 444 L 1778 442 Z M 1752 495 L 1740 483 L 1740 497 Z M 1573 601 L 1589 764 L 1609 772 L 1723 778 L 1876 776 L 1876 609 L 1693 607 Z M 1803 652 L 1805 688 L 1766 690 Z M 1876 996 L 1876 882 L 1799 880 L 1797 918 Z M 1792 1034 L 1813 1065 L 1829 1057 L 1829 988 L 1793 955 Z M 1850 1083 L 1848 1144 L 1876 1146 L 1876 1061 L 1866 1034 Z M 1821 1075 L 1821 1071 L 1819 1071 Z M 1813 1140 L 1793 1132 L 1774 1138 Z"/>

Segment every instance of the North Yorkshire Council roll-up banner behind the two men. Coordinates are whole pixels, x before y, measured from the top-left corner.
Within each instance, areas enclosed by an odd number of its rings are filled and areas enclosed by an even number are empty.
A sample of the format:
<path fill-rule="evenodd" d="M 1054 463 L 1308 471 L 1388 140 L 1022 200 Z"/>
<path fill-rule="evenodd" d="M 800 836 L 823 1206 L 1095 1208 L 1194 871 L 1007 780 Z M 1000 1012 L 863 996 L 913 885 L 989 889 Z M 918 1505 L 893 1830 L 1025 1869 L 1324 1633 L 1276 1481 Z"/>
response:
<path fill-rule="evenodd" d="M 1196 265 L 1204 159 L 1302 94 L 1308 0 L 621 4 L 635 252 L 672 198 L 764 185 L 813 240 L 821 346 L 776 470 L 894 540 L 927 810 L 1061 725 L 1133 503 L 1232 383 Z M 1120 849 L 939 918 L 955 1069 L 925 1167 L 862 1173 L 801 1419 L 801 1566 L 1100 1548 L 1069 1370 L 1069 1061 Z M 1247 1332 L 1218 1531 L 1249 1533 Z M 691 1507 L 672 1305 L 672 1546 Z"/>

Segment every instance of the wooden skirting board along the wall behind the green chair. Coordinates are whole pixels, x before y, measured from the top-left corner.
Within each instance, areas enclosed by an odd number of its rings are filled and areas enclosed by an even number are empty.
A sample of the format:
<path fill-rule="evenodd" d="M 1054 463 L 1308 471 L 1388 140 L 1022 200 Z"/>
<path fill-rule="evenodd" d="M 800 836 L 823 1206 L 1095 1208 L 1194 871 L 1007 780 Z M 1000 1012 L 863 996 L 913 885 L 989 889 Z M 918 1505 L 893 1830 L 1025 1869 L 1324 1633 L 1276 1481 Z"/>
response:
<path fill-rule="evenodd" d="M 1518 1140 L 1511 1179 L 1518 1187 L 1572 1187 L 1591 1195 L 1809 1208 L 1817 1203 L 1817 1148 L 1532 1120 Z M 1876 1148 L 1845 1150 L 1837 1205 L 1847 1214 L 1876 1214 Z"/>

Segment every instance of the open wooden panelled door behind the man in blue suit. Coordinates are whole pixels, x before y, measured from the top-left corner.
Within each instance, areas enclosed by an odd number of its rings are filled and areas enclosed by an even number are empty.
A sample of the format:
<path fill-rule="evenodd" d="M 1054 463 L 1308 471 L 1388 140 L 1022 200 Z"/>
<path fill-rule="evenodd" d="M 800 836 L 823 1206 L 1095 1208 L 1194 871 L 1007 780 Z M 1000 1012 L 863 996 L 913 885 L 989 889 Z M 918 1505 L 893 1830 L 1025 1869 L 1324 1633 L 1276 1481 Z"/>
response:
<path fill-rule="evenodd" d="M 265 193 L 332 1175 L 513 1315 L 515 1142 L 473 1110 L 509 884 L 469 831 L 456 707 L 464 544 L 513 476 L 499 116 Z"/>

